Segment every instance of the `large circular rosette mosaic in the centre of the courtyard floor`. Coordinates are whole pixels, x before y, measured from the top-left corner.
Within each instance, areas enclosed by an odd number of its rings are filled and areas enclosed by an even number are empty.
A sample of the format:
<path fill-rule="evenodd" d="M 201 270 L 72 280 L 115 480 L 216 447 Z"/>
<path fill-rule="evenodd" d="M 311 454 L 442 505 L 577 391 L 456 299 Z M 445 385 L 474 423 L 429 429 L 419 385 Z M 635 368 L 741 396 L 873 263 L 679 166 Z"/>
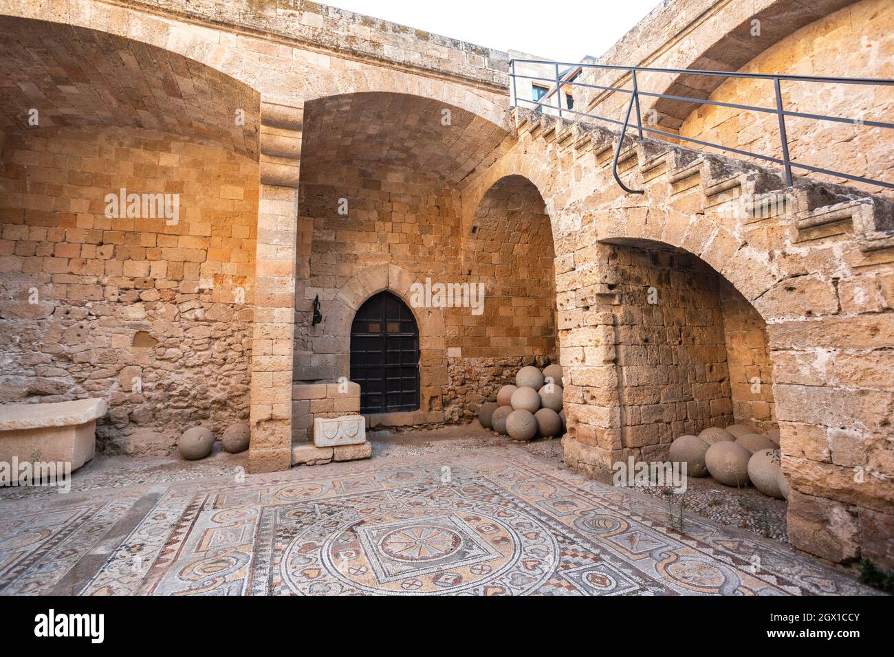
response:
<path fill-rule="evenodd" d="M 330 531 L 311 526 L 292 540 L 283 581 L 299 594 L 518 595 L 556 568 L 555 539 L 529 514 L 474 499 L 428 501 L 321 518 Z"/>

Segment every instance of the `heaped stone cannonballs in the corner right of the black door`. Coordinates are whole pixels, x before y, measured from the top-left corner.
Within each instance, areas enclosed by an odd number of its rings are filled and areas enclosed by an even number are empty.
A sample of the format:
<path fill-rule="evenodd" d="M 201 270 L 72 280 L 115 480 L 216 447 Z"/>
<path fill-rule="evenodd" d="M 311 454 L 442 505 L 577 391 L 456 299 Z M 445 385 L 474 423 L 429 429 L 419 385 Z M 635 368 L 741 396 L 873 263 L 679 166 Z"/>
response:
<path fill-rule="evenodd" d="M 495 402 L 481 406 L 478 421 L 485 429 L 517 441 L 564 434 L 562 383 L 559 365 L 546 366 L 543 372 L 535 366 L 522 367 L 515 375 L 515 385 L 504 385 Z"/>

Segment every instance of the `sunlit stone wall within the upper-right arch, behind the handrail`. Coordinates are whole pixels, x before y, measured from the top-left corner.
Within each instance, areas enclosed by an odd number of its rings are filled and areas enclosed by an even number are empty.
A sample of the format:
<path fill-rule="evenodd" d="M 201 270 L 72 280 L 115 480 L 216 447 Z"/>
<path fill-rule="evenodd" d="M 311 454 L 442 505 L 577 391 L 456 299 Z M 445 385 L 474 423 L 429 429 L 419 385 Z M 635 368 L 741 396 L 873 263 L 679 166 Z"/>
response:
<path fill-rule="evenodd" d="M 742 67 L 742 72 L 785 72 L 854 78 L 894 77 L 894 4 L 863 0 L 815 21 L 783 38 Z M 771 81 L 732 78 L 715 89 L 713 101 L 739 105 L 775 106 Z M 786 119 L 793 160 L 842 173 L 894 181 L 894 131 L 856 121 L 891 122 L 894 88 L 817 82 L 782 82 L 787 110 L 830 114 L 855 122 Z M 731 107 L 702 105 L 689 114 L 679 134 L 766 156 L 782 157 L 779 122 L 773 114 L 743 112 Z M 822 174 L 795 170 L 797 175 Z M 853 183 L 864 190 L 876 186 Z M 892 193 L 888 190 L 885 193 Z"/>

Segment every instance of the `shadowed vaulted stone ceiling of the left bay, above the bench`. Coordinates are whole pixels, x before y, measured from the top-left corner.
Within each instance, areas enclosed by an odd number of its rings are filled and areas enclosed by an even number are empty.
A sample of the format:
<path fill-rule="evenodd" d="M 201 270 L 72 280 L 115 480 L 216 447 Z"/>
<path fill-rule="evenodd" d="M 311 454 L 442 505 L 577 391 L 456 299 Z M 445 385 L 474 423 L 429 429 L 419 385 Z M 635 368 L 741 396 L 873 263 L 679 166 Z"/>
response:
<path fill-rule="evenodd" d="M 0 130 L 7 134 L 140 127 L 256 156 L 257 107 L 255 91 L 181 55 L 92 29 L 0 17 Z M 31 108 L 37 128 L 28 122 Z"/>

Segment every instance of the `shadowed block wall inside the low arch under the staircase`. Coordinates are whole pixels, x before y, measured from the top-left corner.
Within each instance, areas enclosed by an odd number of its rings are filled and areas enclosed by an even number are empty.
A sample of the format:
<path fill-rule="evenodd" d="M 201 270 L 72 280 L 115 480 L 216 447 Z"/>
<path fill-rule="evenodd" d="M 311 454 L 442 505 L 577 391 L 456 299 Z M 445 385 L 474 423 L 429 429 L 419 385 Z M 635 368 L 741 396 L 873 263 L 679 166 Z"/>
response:
<path fill-rule="evenodd" d="M 730 425 L 734 409 L 736 421 L 771 420 L 766 326 L 729 282 L 666 246 L 601 245 L 595 269 L 602 289 L 559 299 L 569 308 L 586 299 L 587 312 L 603 316 L 601 327 L 594 334 L 565 330 L 561 338 L 583 361 L 605 360 L 615 369 L 595 390 L 566 386 L 566 402 L 576 417 L 618 404 L 619 428 L 601 441 L 613 459 L 666 459 L 679 435 Z M 742 384 L 747 375 L 765 377 L 763 394 Z"/>

